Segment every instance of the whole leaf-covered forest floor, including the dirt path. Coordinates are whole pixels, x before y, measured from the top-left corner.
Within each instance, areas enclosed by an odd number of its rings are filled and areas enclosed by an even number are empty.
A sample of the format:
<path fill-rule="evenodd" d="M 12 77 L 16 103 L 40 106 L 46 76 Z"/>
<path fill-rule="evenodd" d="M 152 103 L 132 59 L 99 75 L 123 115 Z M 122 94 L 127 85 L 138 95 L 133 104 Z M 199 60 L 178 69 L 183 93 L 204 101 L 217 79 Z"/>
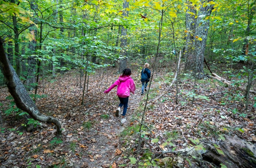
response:
<path fill-rule="evenodd" d="M 237 88 L 214 79 L 194 81 L 188 76 L 180 80 L 178 89 L 181 94 L 176 104 L 175 86 L 164 94 L 173 80 L 171 71 L 154 74 L 139 156 L 136 156 L 138 121 L 142 118 L 147 97 L 140 95 L 139 70 L 131 75 L 137 90 L 129 98 L 127 122 L 123 126 L 120 124 L 121 113 L 115 117 L 119 102 L 116 88 L 104 94 L 104 90 L 118 79 L 117 69 L 109 67 L 107 71 L 100 70 L 90 76 L 83 105 L 83 88 L 74 71 L 41 81 L 38 94 L 42 98 L 36 99 L 36 105 L 41 113 L 59 119 L 63 129 L 59 138 L 55 137 L 56 129 L 52 124 L 42 123 L 26 131 L 22 126 L 26 124 L 24 118 L 14 113 L 6 115 L 10 106 L 10 99 L 6 99 L 9 93 L 7 87 L 0 88 L 0 168 L 131 168 L 136 167 L 132 158 L 140 158 L 144 165 L 153 165 L 151 157 L 159 158 L 163 167 L 200 167 L 193 163 L 193 158 L 179 158 L 172 152 L 159 153 L 180 151 L 191 147 L 192 142 L 200 144 L 202 139 L 215 142 L 222 134 L 239 137 L 255 146 L 253 94 L 248 110 L 245 110 L 244 102 L 240 101 L 242 94 Z M 169 165 L 161 160 L 168 157 L 173 158 Z M 213 163 L 202 165 L 213 167 Z"/>

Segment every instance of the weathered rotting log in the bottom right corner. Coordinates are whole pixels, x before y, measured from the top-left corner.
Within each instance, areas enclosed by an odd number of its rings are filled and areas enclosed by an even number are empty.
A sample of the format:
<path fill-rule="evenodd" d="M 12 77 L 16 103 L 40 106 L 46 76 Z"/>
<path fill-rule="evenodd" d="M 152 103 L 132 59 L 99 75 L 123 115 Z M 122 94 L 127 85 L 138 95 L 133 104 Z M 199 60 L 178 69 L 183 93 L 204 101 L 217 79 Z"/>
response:
<path fill-rule="evenodd" d="M 208 151 L 202 154 L 203 159 L 216 166 L 222 163 L 227 168 L 256 167 L 256 147 L 238 137 L 225 136 L 225 140 L 217 144 L 218 147 L 206 141 L 202 143 Z"/>

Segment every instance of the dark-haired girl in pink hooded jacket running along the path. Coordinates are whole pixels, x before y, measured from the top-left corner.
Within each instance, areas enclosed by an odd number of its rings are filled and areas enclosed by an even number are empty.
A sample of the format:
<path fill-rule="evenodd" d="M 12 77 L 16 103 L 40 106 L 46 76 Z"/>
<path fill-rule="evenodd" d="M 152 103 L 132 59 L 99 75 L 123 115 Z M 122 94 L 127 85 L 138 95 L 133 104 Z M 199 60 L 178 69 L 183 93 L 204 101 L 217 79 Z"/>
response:
<path fill-rule="evenodd" d="M 135 91 L 135 84 L 133 79 L 130 77 L 131 70 L 130 69 L 124 69 L 123 74 L 118 78 L 116 82 L 114 82 L 104 93 L 109 93 L 111 89 L 114 87 L 117 87 L 116 95 L 118 96 L 120 103 L 118 105 L 118 108 L 116 109 L 116 117 L 119 116 L 119 112 L 121 110 L 121 107 L 123 108 L 123 115 L 121 119 L 121 124 L 125 123 L 125 114 L 128 108 L 128 99 L 130 96 L 130 92 L 134 94 Z"/>

